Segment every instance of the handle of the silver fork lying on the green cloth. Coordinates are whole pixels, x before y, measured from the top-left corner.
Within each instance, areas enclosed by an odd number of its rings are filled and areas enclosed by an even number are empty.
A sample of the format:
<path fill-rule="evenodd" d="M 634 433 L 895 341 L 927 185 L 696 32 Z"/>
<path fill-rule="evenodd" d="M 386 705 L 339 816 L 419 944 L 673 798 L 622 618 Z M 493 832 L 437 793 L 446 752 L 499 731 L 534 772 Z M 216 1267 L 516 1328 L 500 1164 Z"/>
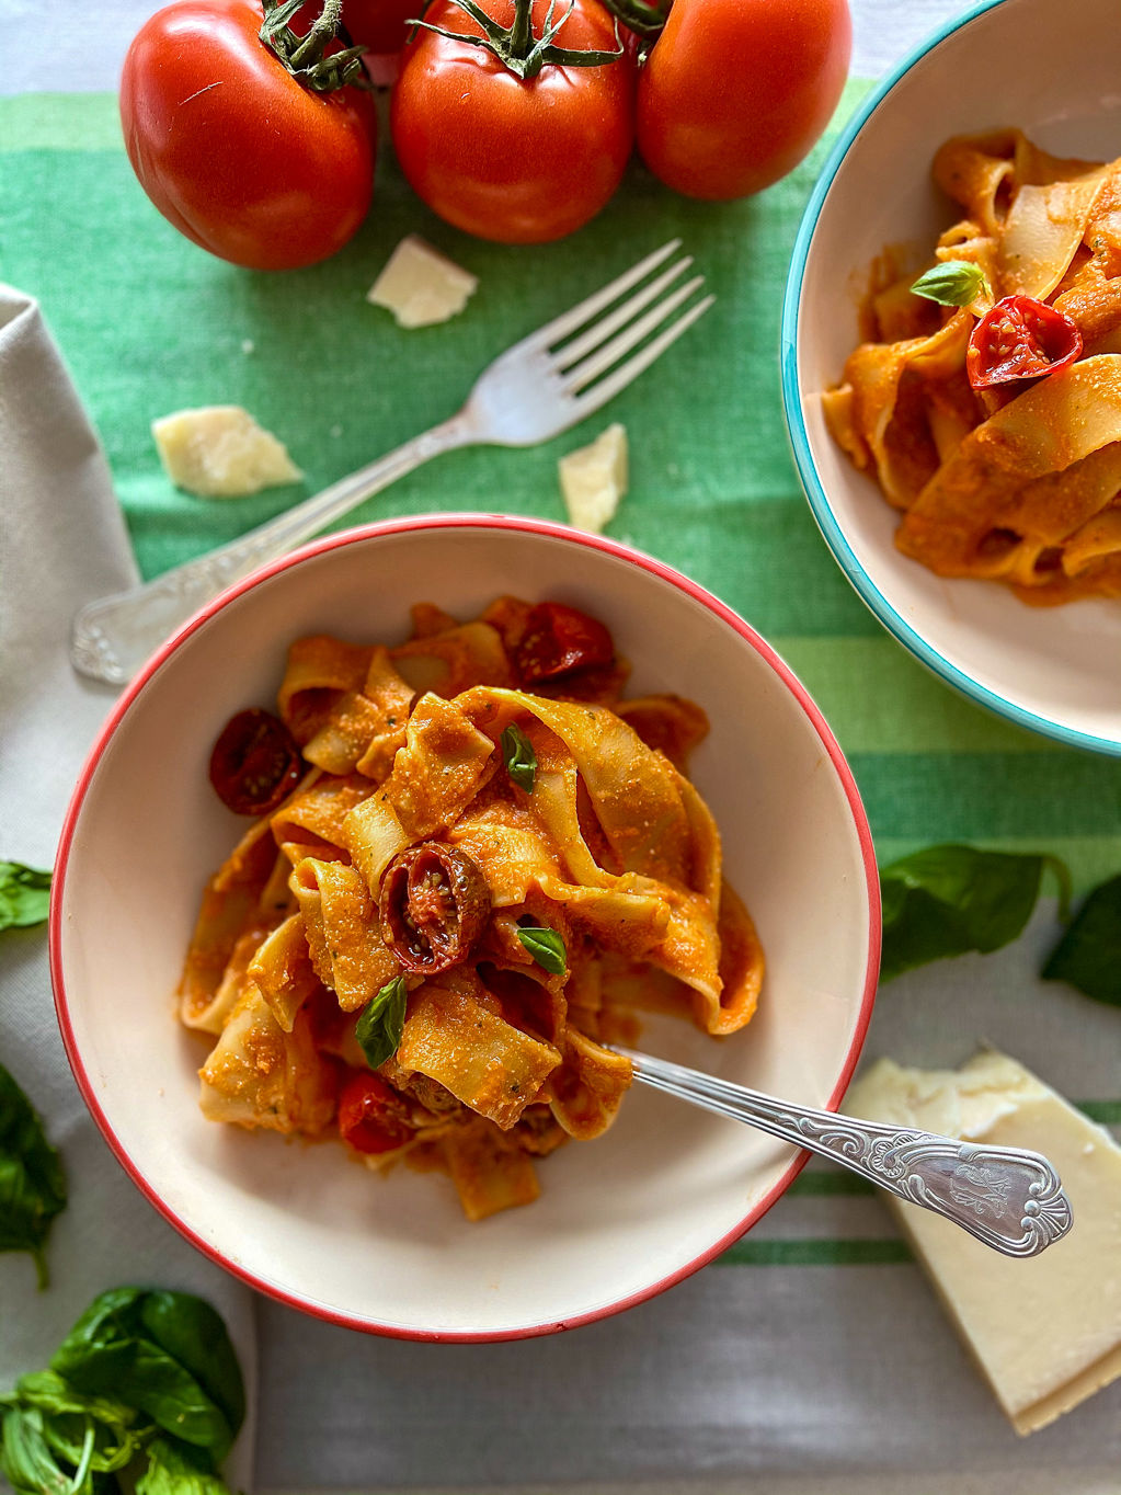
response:
<path fill-rule="evenodd" d="M 126 685 L 179 623 L 224 588 L 259 565 L 287 555 L 429 457 L 469 446 L 474 440 L 468 417 L 460 411 L 239 540 L 127 592 L 88 602 L 73 620 L 70 662 L 91 680 Z"/>

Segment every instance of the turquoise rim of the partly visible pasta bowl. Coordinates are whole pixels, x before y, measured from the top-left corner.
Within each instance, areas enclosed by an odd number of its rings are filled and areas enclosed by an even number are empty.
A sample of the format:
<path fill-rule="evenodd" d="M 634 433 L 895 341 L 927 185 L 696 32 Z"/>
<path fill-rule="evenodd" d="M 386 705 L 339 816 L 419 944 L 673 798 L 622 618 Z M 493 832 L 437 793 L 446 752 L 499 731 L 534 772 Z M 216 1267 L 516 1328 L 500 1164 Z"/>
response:
<path fill-rule="evenodd" d="M 986 707 L 989 712 L 995 712 L 997 716 L 1003 716 L 1007 721 L 1015 722 L 1018 727 L 1025 727 L 1028 731 L 1039 733 L 1043 737 L 1051 737 L 1069 748 L 1088 748 L 1093 752 L 1121 756 L 1121 739 L 1100 737 L 1096 733 L 1082 731 L 1078 727 L 1067 727 L 1049 716 L 1042 716 L 1037 712 L 1028 710 L 1028 707 L 1019 706 L 1016 701 L 1010 701 L 1007 697 L 1000 695 L 1000 692 L 991 691 L 986 685 L 975 680 L 972 674 L 952 664 L 943 653 L 928 643 L 922 634 L 916 632 L 901 613 L 886 599 L 883 592 L 856 559 L 856 555 L 833 511 L 833 505 L 825 493 L 825 486 L 818 475 L 813 453 L 810 451 L 806 414 L 803 411 L 801 392 L 798 389 L 798 317 L 801 311 L 803 283 L 806 278 L 806 262 L 818 229 L 822 206 L 825 205 L 825 199 L 833 187 L 834 178 L 847 157 L 852 144 L 888 94 L 895 90 L 895 87 L 907 76 L 916 63 L 921 63 L 945 40 L 970 25 L 973 21 L 979 19 L 982 15 L 986 15 L 997 6 L 1013 3 L 1015 0 L 979 0 L 979 3 L 964 15 L 943 22 L 925 40 L 919 42 L 918 46 L 915 46 L 907 57 L 904 57 L 903 61 L 891 73 L 888 73 L 886 78 L 870 90 L 841 130 L 837 144 L 830 151 L 821 175 L 813 185 L 810 200 L 806 203 L 806 209 L 798 224 L 798 233 L 794 241 L 794 251 L 791 254 L 791 268 L 786 275 L 786 290 L 783 293 L 779 347 L 782 404 L 786 416 L 786 434 L 794 453 L 794 462 L 816 525 L 821 529 L 827 546 L 833 552 L 834 559 L 844 573 L 849 585 L 853 588 L 868 611 L 888 629 L 888 632 L 898 643 L 901 643 L 904 649 L 915 655 L 921 664 L 927 665 L 933 674 L 945 680 L 946 685 L 961 691 L 963 695 L 976 701 L 979 706 Z"/>

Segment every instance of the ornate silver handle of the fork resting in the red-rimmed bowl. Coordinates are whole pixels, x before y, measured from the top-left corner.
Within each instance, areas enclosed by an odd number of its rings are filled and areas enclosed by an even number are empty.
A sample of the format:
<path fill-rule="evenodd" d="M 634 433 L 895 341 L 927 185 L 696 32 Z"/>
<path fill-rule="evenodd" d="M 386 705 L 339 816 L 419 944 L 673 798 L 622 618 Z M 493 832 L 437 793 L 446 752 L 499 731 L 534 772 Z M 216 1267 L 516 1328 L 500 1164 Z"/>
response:
<path fill-rule="evenodd" d="M 1070 1229 L 1070 1202 L 1058 1174 L 1039 1153 L 794 1106 L 680 1064 L 619 1052 L 643 1084 L 831 1157 L 1006 1256 L 1037 1256 Z"/>

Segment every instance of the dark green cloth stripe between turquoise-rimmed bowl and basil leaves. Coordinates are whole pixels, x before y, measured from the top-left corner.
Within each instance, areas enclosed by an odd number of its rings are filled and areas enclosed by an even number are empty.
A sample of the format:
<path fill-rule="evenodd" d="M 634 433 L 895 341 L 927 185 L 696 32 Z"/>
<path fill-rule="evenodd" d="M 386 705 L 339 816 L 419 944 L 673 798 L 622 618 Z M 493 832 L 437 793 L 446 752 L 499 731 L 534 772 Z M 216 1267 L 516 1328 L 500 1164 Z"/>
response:
<path fill-rule="evenodd" d="M 900 701 L 900 710 L 907 703 Z M 1073 750 L 853 753 L 876 837 L 916 842 L 1121 834 L 1117 761 Z"/>

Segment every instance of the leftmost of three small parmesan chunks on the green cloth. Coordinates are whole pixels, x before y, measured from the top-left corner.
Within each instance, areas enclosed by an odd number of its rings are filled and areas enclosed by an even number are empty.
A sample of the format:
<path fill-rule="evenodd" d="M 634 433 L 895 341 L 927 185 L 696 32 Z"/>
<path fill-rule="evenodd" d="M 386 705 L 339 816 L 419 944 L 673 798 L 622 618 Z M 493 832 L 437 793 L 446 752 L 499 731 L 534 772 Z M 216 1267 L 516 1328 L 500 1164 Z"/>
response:
<path fill-rule="evenodd" d="M 241 498 L 303 477 L 241 405 L 176 410 L 152 422 L 152 437 L 172 483 L 200 498 Z"/>

